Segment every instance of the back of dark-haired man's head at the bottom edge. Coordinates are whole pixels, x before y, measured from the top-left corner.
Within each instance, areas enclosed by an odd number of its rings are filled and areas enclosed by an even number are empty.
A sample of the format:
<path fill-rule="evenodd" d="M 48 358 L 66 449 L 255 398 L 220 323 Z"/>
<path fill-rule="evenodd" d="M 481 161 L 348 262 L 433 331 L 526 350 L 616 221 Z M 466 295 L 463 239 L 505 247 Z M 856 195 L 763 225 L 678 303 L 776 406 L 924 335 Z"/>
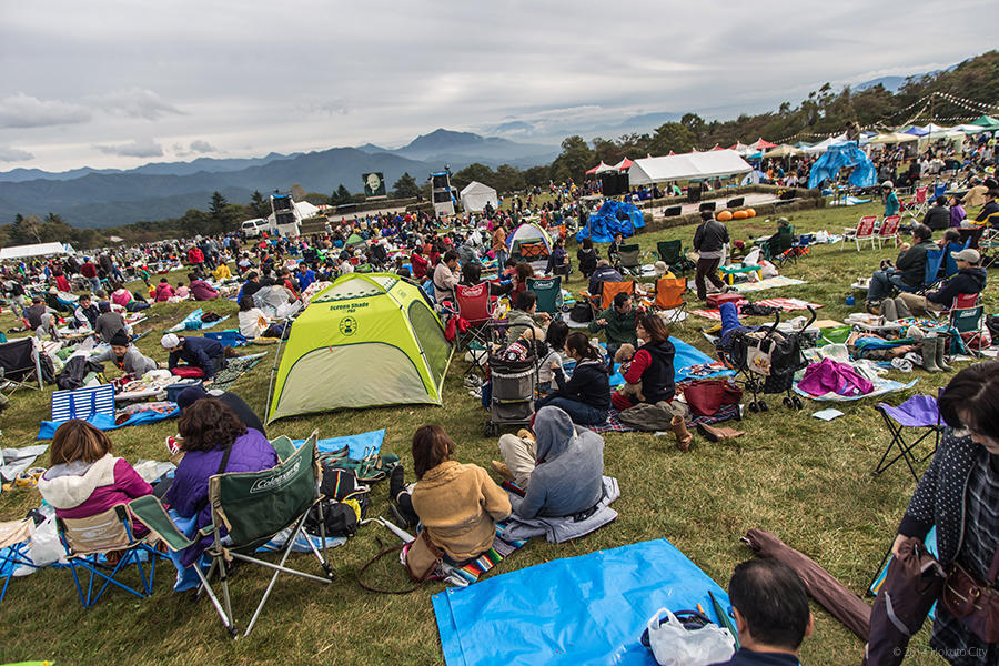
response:
<path fill-rule="evenodd" d="M 815 630 L 801 578 L 776 559 L 736 566 L 728 599 L 741 647 L 714 666 L 798 666 L 798 649 Z"/>

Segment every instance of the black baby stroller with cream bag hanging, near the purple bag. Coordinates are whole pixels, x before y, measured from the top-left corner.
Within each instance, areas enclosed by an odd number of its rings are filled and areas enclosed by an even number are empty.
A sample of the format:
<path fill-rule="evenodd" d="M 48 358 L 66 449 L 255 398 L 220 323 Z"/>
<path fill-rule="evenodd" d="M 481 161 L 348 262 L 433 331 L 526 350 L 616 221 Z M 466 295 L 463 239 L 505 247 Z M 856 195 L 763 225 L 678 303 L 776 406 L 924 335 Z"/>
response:
<path fill-rule="evenodd" d="M 739 373 L 746 390 L 753 393 L 748 407 L 750 412 L 766 412 L 769 407 L 759 394 L 784 393 L 784 406 L 789 410 L 804 407 L 801 398 L 791 393 L 795 373 L 808 363 L 801 354 L 801 336 L 815 322 L 816 313 L 808 309 L 809 320 L 800 331 L 781 333 L 777 331 L 780 311 L 774 314 L 774 324 L 757 331 L 736 331 L 731 337 L 731 349 L 723 354 L 723 361 Z"/>

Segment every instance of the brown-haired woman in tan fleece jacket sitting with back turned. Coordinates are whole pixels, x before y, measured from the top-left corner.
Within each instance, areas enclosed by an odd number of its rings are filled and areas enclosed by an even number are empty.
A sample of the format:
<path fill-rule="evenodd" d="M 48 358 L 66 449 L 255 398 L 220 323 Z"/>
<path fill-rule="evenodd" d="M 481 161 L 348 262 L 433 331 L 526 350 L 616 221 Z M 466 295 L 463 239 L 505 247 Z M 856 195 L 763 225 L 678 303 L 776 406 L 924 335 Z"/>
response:
<path fill-rule="evenodd" d="M 431 541 L 460 563 L 493 546 L 495 521 L 509 516 L 511 507 L 506 491 L 485 470 L 452 455 L 454 442 L 440 425 L 421 426 L 413 435 L 413 509 Z"/>

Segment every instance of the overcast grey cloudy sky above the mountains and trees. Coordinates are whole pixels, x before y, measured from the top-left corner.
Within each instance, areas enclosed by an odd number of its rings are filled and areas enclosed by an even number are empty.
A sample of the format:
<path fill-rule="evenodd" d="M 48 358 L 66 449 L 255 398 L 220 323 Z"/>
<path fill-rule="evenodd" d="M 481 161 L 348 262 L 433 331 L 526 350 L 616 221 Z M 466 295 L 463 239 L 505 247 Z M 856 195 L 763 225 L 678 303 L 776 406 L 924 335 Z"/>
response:
<path fill-rule="evenodd" d="M 995 48 L 999 2 L 6 2 L 0 170 L 731 117 Z M 617 14 L 608 16 L 608 11 Z M 956 21 L 956 22 L 955 22 Z M 953 39 L 959 36 L 960 39 Z M 652 129 L 652 128 L 649 128 Z"/>

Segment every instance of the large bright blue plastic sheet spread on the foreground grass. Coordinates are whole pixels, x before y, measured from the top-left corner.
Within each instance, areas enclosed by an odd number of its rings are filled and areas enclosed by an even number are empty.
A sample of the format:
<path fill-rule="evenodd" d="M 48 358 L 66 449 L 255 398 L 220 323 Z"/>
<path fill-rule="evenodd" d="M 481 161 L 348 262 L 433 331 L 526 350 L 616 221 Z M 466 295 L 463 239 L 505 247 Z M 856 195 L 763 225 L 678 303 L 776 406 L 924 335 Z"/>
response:
<path fill-rule="evenodd" d="M 728 595 L 665 538 L 555 559 L 433 596 L 447 666 L 654 666 L 640 643 L 659 608 Z"/>

